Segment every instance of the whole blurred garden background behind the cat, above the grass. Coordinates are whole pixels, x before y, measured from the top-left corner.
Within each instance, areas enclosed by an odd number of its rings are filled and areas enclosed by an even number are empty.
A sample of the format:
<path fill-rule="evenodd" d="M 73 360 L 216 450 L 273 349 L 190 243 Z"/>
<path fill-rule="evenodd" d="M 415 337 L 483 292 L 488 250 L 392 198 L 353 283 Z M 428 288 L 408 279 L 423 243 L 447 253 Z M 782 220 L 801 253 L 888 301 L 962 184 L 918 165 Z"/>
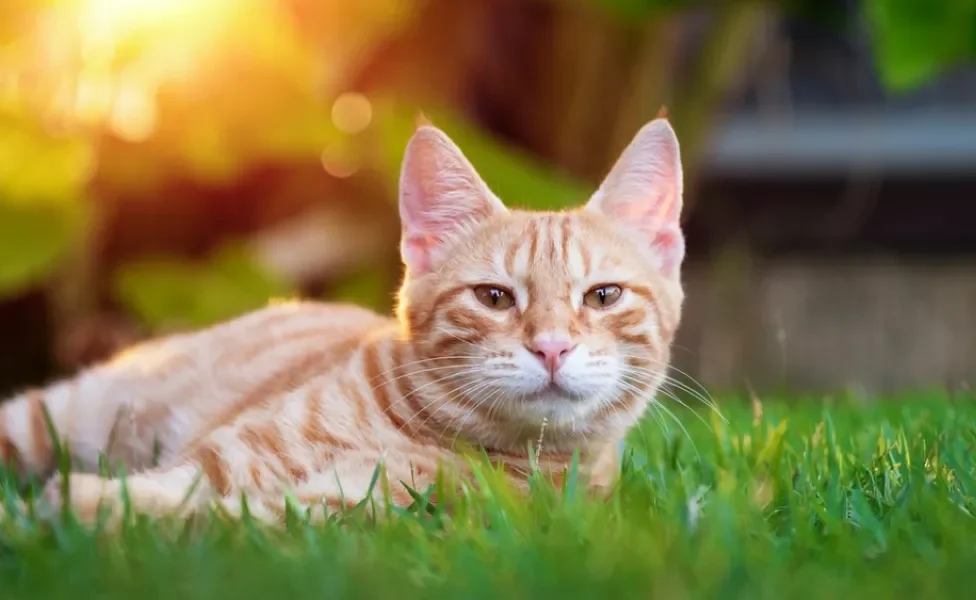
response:
<path fill-rule="evenodd" d="M 271 297 L 388 311 L 419 110 L 558 209 L 663 105 L 678 368 L 962 390 L 974 64 L 976 0 L 4 0 L 0 393 Z"/>

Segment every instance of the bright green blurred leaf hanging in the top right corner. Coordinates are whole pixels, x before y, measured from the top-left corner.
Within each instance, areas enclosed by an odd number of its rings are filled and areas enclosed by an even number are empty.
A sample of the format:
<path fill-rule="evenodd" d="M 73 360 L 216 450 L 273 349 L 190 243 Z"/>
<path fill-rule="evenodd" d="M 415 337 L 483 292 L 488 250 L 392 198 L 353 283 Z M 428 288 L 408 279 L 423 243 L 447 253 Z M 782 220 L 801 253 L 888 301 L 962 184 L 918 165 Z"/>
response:
<path fill-rule="evenodd" d="M 868 0 L 885 85 L 903 91 L 976 58 L 976 0 Z"/>

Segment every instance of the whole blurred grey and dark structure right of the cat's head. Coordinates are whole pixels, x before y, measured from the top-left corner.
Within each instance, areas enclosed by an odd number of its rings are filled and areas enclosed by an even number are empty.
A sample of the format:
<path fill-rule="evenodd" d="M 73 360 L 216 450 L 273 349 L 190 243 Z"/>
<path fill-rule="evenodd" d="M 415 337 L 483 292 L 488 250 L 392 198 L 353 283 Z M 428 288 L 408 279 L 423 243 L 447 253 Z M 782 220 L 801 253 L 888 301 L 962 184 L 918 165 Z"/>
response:
<path fill-rule="evenodd" d="M 976 69 L 885 93 L 848 4 L 783 21 L 710 140 L 675 360 L 711 388 L 976 383 Z"/>

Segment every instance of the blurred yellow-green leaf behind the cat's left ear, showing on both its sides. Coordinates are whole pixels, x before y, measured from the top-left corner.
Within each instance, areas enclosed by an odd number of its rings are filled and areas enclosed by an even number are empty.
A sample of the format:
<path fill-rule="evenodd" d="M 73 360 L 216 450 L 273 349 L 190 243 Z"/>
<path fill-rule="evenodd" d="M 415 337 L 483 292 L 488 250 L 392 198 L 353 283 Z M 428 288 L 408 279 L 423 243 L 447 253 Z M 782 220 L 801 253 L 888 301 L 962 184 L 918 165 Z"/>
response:
<path fill-rule="evenodd" d="M 377 134 L 379 168 L 396 189 L 407 141 L 416 129 L 417 111 L 402 105 L 375 102 L 373 129 Z M 490 137 L 460 115 L 443 109 L 424 109 L 425 116 L 461 148 L 478 173 L 509 206 L 558 210 L 576 206 L 592 191 L 566 175 L 547 168 L 512 146 Z"/>

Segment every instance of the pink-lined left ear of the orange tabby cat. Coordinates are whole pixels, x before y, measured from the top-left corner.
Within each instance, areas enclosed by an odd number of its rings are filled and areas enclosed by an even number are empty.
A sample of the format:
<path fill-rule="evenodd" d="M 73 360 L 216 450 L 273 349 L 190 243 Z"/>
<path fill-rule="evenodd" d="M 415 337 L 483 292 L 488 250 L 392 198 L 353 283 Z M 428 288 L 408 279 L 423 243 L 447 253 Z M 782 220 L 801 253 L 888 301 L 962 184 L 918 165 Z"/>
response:
<path fill-rule="evenodd" d="M 400 254 L 411 273 L 431 271 L 457 236 L 506 210 L 443 131 L 419 125 L 400 171 Z"/>

